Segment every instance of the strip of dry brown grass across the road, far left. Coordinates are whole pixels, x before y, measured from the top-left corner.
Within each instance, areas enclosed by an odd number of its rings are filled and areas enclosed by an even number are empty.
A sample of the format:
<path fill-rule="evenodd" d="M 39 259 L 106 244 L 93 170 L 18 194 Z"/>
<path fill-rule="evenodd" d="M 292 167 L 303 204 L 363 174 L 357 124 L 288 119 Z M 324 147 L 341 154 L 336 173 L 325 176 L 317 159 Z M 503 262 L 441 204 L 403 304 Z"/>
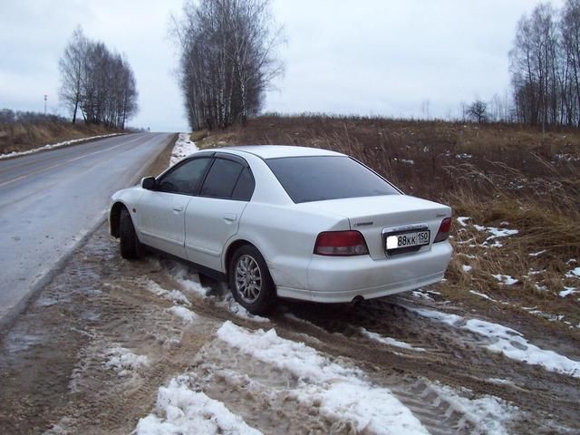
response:
<path fill-rule="evenodd" d="M 81 139 L 107 134 L 101 125 L 69 124 L 61 122 L 0 124 L 0 154 L 32 150 L 49 143 Z"/>

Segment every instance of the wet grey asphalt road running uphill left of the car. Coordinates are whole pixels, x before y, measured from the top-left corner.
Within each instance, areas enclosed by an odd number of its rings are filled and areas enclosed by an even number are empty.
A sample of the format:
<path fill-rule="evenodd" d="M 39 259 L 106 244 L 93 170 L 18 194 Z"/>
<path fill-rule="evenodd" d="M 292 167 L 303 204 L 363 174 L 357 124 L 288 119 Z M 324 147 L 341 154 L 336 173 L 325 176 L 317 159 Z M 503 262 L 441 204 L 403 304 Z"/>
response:
<path fill-rule="evenodd" d="M 171 137 L 135 133 L 0 160 L 0 324 L 24 306 Z"/>

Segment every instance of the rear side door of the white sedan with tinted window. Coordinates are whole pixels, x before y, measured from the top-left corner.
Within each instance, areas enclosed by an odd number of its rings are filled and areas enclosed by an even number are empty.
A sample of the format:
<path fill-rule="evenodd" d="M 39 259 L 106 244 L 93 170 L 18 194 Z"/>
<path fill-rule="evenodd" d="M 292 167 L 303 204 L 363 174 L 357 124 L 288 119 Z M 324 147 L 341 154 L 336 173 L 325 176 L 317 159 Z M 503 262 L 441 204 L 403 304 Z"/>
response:
<path fill-rule="evenodd" d="M 254 192 L 246 160 L 218 153 L 198 196 L 185 214 L 185 248 L 189 261 L 220 272 L 227 240 L 237 233 L 239 220 Z"/>

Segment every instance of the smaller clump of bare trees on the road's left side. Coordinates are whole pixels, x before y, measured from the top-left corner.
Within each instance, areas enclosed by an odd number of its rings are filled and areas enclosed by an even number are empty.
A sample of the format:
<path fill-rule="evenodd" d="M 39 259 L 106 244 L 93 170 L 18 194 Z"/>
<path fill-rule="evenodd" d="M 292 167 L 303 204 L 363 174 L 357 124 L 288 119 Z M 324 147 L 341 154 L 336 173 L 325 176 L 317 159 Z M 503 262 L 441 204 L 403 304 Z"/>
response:
<path fill-rule="evenodd" d="M 124 129 L 137 113 L 137 85 L 126 57 L 88 39 L 80 27 L 66 45 L 59 68 L 61 102 L 73 123 L 80 112 L 88 124 Z"/>

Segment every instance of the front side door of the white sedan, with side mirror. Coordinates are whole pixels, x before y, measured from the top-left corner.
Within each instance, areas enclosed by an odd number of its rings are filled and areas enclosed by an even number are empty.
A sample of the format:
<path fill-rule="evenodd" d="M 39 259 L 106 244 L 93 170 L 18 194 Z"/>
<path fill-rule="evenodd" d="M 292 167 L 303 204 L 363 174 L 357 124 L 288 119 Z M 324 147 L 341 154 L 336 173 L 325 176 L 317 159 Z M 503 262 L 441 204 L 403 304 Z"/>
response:
<path fill-rule="evenodd" d="M 156 189 L 143 193 L 136 213 L 142 243 L 187 258 L 185 211 L 211 161 L 205 156 L 179 162 L 160 176 Z"/>

